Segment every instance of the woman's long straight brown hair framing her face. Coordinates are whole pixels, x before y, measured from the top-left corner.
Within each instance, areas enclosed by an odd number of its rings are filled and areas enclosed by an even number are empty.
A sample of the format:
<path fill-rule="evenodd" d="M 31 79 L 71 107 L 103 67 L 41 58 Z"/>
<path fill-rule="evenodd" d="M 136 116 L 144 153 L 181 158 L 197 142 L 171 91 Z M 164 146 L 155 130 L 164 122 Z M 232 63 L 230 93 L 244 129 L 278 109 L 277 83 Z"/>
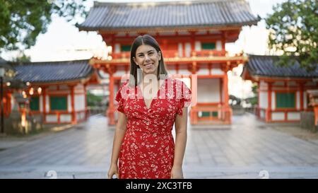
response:
<path fill-rule="evenodd" d="M 150 45 L 151 47 L 155 48 L 157 52 L 161 52 L 161 59 L 159 60 L 158 64 L 158 73 L 157 73 L 157 78 L 158 80 L 160 77 L 162 78 L 163 76 L 160 75 L 165 75 L 164 77 L 167 76 L 167 69 L 165 67 L 165 62 L 163 62 L 163 52 L 160 49 L 160 46 L 158 42 L 153 38 L 151 35 L 139 35 L 136 37 L 134 40 L 132 46 L 131 46 L 131 52 L 130 52 L 130 76 L 129 77 L 129 85 L 130 86 L 137 86 L 140 81 L 141 81 L 141 74 L 138 74 L 137 71 L 141 70 L 140 67 L 134 62 L 134 57 L 136 58 L 136 50 L 139 46 L 141 45 Z M 139 77 L 138 77 L 139 76 Z"/>

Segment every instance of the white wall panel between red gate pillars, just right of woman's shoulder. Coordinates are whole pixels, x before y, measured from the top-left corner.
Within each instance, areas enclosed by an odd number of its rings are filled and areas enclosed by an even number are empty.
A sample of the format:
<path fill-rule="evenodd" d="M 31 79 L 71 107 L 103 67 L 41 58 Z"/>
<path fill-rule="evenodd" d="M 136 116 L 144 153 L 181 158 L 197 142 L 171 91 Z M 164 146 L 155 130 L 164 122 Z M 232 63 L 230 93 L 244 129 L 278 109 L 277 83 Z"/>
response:
<path fill-rule="evenodd" d="M 198 78 L 198 103 L 220 103 L 220 79 Z"/>

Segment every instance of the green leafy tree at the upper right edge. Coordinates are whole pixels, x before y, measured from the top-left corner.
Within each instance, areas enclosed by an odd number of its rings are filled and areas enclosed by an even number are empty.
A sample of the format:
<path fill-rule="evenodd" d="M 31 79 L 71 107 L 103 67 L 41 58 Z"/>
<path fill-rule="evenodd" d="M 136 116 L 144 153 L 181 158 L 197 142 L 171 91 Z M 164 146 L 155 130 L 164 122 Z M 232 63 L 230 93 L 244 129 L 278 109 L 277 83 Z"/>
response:
<path fill-rule="evenodd" d="M 317 0 L 288 0 L 273 6 L 266 18 L 269 48 L 283 51 L 280 66 L 300 63 L 312 71 L 317 68 L 318 9 Z"/>

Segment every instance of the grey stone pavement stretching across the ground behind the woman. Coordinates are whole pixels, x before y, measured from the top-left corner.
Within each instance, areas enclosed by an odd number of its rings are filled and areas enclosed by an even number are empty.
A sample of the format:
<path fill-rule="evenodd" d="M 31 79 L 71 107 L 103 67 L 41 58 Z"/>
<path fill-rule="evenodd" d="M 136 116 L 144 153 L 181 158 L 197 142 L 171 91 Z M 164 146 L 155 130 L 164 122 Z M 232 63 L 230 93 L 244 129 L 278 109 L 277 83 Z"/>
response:
<path fill-rule="evenodd" d="M 230 126 L 189 126 L 184 177 L 318 178 L 317 141 L 273 127 L 280 126 L 248 113 L 234 116 Z M 0 141 L 0 178 L 49 178 L 50 170 L 57 178 L 106 178 L 113 135 L 107 118 L 95 115 L 71 129 L 21 139 L 15 146 Z"/>

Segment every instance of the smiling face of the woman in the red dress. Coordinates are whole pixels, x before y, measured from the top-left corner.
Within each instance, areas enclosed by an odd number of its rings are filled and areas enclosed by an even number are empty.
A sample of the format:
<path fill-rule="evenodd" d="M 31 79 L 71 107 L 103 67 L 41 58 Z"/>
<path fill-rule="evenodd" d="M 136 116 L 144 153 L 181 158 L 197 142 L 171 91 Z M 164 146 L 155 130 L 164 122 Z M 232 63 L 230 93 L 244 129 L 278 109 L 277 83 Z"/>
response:
<path fill-rule="evenodd" d="M 157 75 L 161 52 L 157 52 L 157 50 L 150 45 L 140 45 L 136 49 L 136 57 L 133 59 L 134 62 L 143 70 L 143 74 Z"/>

